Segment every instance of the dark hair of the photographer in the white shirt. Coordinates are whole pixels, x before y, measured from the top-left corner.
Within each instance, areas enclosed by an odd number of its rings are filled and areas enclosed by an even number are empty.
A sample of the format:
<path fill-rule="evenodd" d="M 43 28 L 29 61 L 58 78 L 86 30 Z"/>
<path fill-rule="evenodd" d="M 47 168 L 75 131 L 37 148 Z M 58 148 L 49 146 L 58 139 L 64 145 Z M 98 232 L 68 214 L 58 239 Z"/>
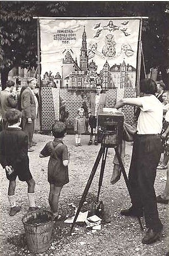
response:
<path fill-rule="evenodd" d="M 142 79 L 140 81 L 140 92 L 146 94 L 155 94 L 157 92 L 157 84 L 152 79 Z"/>

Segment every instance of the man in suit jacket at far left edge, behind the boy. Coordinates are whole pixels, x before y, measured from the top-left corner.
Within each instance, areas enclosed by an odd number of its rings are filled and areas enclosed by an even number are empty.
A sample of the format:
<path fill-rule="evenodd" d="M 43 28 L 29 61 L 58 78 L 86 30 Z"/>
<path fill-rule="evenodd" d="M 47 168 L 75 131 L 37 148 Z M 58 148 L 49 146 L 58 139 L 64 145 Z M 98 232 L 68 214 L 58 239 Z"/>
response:
<path fill-rule="evenodd" d="M 6 88 L 3 91 L 1 91 L 0 94 L 3 129 L 6 129 L 8 126 L 6 112 L 8 111 L 8 109 L 17 107 L 17 94 L 16 90 L 14 90 L 14 85 L 15 84 L 12 80 L 8 80 L 6 82 Z"/>

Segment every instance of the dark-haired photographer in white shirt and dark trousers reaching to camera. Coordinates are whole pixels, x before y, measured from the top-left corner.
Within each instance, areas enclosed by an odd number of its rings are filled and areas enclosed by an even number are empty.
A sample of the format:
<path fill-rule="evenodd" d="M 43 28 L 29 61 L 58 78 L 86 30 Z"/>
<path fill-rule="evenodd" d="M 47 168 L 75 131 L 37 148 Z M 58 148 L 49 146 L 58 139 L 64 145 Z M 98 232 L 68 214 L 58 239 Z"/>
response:
<path fill-rule="evenodd" d="M 132 206 L 122 210 L 121 214 L 142 216 L 144 210 L 148 228 L 142 239 L 144 244 L 156 242 L 162 235 L 162 223 L 158 218 L 154 182 L 162 151 L 160 133 L 163 110 L 161 102 L 155 97 L 156 92 L 156 83 L 152 79 L 144 79 L 140 81 L 139 98 L 124 98 L 114 106 L 115 111 L 125 104 L 140 108 L 129 170 Z"/>

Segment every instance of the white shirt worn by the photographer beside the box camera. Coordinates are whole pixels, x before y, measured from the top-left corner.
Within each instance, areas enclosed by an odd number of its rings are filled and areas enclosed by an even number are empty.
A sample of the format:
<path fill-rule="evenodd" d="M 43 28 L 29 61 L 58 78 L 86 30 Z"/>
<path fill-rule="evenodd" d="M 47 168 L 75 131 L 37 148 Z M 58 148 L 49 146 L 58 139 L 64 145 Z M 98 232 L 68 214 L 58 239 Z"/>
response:
<path fill-rule="evenodd" d="M 162 130 L 163 106 L 154 96 L 140 97 L 142 104 L 137 122 L 138 134 L 158 134 Z"/>

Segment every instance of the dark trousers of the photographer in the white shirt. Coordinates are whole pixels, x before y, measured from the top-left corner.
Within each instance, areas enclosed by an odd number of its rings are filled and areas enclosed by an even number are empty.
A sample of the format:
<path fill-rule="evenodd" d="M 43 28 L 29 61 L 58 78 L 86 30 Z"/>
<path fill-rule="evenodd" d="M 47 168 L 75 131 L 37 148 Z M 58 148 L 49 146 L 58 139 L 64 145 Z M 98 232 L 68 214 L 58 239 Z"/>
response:
<path fill-rule="evenodd" d="M 136 134 L 129 170 L 131 203 L 143 209 L 147 228 L 160 231 L 162 224 L 158 218 L 154 183 L 156 168 L 162 152 L 158 134 Z"/>

